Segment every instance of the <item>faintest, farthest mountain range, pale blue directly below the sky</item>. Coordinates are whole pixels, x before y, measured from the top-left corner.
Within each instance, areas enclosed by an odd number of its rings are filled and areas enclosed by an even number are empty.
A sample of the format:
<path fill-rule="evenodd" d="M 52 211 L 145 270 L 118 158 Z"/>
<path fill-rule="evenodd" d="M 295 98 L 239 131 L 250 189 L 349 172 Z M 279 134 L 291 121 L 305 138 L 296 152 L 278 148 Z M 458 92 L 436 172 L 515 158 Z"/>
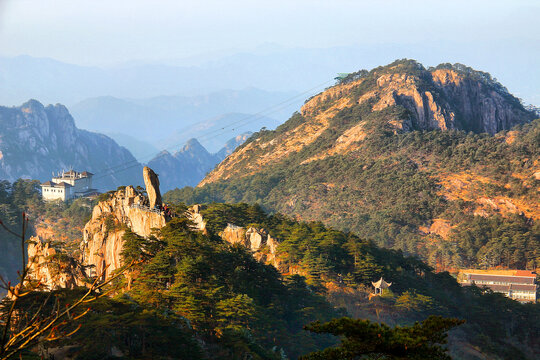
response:
<path fill-rule="evenodd" d="M 227 55 L 110 67 L 79 66 L 29 56 L 0 57 L 0 103 L 15 105 L 35 98 L 71 108 L 84 99 L 103 95 L 122 99 L 193 96 L 251 87 L 298 93 L 331 80 L 338 72 L 353 72 L 392 59 L 412 57 L 426 64 L 460 61 L 484 68 L 526 102 L 540 104 L 538 69 L 530 66 L 530 59 L 538 58 L 538 48 L 530 46 L 526 37 L 521 42 L 460 43 L 459 48 L 466 55 L 458 58 L 456 44 L 447 41 L 322 49 L 267 46 Z M 501 53 L 501 48 L 506 51 Z M 498 56 L 492 56 L 494 53 Z M 227 112 L 234 111 L 249 113 Z"/>

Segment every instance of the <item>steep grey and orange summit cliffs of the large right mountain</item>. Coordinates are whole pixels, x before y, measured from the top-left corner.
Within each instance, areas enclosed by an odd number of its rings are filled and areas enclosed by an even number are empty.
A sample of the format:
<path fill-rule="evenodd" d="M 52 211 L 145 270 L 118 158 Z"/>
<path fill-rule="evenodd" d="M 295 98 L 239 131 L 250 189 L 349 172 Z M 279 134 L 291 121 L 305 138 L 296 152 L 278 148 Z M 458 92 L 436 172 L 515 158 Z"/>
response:
<path fill-rule="evenodd" d="M 401 105 L 412 116 L 397 122 L 400 130 L 459 129 L 491 135 L 508 130 L 533 116 L 503 89 L 456 69 L 424 71 L 423 76 L 406 73 L 377 78 L 379 111 Z M 429 89 L 429 90 L 428 90 Z"/>

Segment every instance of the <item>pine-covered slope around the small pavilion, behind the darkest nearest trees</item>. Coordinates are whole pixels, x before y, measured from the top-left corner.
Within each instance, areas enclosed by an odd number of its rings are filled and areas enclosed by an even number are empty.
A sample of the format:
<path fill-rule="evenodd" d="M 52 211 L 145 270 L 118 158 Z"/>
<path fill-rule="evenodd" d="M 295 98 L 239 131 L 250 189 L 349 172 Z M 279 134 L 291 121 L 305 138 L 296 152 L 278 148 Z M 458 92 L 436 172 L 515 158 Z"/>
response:
<path fill-rule="evenodd" d="M 313 343 L 300 328 L 314 319 L 338 316 L 334 307 L 355 318 L 391 325 L 411 324 L 432 314 L 465 319 L 467 323 L 451 334 L 450 351 L 456 358 L 513 354 L 526 359 L 540 352 L 538 305 L 462 288 L 446 272 L 436 273 L 400 251 L 320 222 L 269 216 L 246 204 L 210 204 L 201 214 L 207 235 L 192 232 L 182 218 L 161 230 L 162 242 L 128 235 L 126 259 L 147 263 L 136 271 L 127 294 L 152 307 L 167 304 L 194 328 L 215 335 L 218 343 L 227 331 L 249 329 L 264 348 L 283 348 L 296 358 L 328 346 L 322 340 Z M 228 224 L 268 231 L 278 239 L 280 264 L 293 272 L 279 276 L 243 246 L 224 242 L 218 234 Z M 371 282 L 381 276 L 392 282 L 391 291 L 372 298 Z"/>

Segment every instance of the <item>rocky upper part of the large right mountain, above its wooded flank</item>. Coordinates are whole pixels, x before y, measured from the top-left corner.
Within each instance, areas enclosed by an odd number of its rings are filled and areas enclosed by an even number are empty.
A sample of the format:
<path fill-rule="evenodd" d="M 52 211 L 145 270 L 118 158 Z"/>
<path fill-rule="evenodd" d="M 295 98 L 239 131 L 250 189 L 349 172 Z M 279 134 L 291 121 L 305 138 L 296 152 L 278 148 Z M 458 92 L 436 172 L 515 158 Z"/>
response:
<path fill-rule="evenodd" d="M 359 149 L 379 133 L 463 130 L 494 135 L 535 118 L 485 72 L 398 60 L 349 74 L 275 131 L 255 134 L 199 185 L 254 174 L 303 153 L 302 163 Z M 243 164 L 238 166 L 238 164 Z"/>

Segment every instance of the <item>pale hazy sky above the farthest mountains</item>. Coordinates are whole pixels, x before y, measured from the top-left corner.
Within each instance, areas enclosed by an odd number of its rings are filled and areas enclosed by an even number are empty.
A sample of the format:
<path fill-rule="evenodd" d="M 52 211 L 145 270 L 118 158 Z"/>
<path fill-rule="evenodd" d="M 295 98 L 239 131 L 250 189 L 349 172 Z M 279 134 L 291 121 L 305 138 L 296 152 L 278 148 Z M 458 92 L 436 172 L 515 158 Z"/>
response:
<path fill-rule="evenodd" d="M 0 0 L 0 55 L 103 65 L 264 43 L 538 46 L 539 18 L 538 0 Z"/>

